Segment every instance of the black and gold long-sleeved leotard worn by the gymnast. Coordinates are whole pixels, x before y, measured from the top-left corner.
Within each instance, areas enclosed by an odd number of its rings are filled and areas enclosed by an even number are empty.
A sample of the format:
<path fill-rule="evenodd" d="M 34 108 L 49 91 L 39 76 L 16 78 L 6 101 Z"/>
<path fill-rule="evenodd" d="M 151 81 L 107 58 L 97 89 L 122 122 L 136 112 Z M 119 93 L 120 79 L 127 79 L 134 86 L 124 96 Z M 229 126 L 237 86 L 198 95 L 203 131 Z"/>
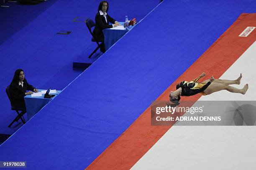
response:
<path fill-rule="evenodd" d="M 182 88 L 181 96 L 192 96 L 198 93 L 202 93 L 202 95 L 206 95 L 203 91 L 211 84 L 211 82 L 207 83 L 197 83 L 197 81 L 201 77 L 197 77 L 191 81 L 182 81 L 180 84 L 177 84 L 176 89 Z"/>

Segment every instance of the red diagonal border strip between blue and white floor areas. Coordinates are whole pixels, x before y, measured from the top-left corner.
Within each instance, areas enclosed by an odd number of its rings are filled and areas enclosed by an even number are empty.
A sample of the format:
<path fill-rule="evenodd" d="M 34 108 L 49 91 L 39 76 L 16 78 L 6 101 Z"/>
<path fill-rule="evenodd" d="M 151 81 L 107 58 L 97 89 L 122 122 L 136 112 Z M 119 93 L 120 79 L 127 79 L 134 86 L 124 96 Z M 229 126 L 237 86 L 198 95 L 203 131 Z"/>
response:
<path fill-rule="evenodd" d="M 248 37 L 238 37 L 246 27 L 255 25 L 256 13 L 241 14 L 236 22 L 157 100 L 168 100 L 169 91 L 175 89 L 178 82 L 197 77 L 203 71 L 208 76 L 214 75 L 215 78 L 224 74 L 256 41 L 256 31 Z M 184 97 L 182 100 L 197 101 L 199 98 L 200 95 L 195 95 Z M 130 169 L 170 128 L 171 126 L 151 126 L 151 108 L 148 107 L 87 169 Z"/>

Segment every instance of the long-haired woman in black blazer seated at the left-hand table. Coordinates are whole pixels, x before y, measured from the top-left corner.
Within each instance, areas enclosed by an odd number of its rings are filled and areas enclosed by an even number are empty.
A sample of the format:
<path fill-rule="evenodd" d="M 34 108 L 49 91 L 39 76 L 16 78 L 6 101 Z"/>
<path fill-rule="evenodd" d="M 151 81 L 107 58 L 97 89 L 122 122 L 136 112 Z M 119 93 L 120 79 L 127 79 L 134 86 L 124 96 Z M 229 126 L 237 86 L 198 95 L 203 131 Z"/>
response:
<path fill-rule="evenodd" d="M 31 90 L 26 92 L 27 90 Z M 15 71 L 13 80 L 10 83 L 10 94 L 12 98 L 12 106 L 19 107 L 26 110 L 24 96 L 28 94 L 33 94 L 33 92 L 38 92 L 38 90 L 32 85 L 28 84 L 25 79 L 25 74 L 22 69 Z"/>

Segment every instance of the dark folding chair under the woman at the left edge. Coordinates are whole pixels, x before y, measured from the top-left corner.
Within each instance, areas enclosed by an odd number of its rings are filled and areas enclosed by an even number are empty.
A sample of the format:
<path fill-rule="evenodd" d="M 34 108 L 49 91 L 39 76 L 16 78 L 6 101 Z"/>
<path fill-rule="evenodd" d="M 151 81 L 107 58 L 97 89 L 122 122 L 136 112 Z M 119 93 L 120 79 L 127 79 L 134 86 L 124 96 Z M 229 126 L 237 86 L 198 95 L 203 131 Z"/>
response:
<path fill-rule="evenodd" d="M 11 109 L 15 110 L 17 112 L 17 114 L 18 114 L 18 116 L 15 117 L 13 122 L 11 122 L 8 127 L 11 127 L 11 125 L 14 122 L 18 122 L 19 119 L 23 122 L 23 124 L 25 124 L 26 122 L 25 122 L 25 119 L 23 117 L 23 114 L 26 113 L 26 109 L 25 108 L 19 108 L 19 107 L 13 107 L 13 105 L 12 105 L 13 100 L 12 100 L 11 93 L 10 93 L 10 86 L 6 87 L 5 91 L 6 91 L 6 94 L 7 94 L 8 98 L 9 98 L 9 100 L 10 100 Z M 19 112 L 19 111 L 21 111 L 21 112 Z"/>

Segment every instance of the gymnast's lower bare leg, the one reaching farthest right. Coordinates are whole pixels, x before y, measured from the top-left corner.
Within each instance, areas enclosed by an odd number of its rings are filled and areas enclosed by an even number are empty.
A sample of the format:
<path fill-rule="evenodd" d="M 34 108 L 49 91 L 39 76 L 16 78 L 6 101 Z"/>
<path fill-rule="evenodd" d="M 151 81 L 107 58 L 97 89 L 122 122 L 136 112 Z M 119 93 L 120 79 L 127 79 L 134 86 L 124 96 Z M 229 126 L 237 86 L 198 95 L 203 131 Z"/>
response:
<path fill-rule="evenodd" d="M 230 91 L 231 93 L 241 93 L 241 94 L 246 94 L 246 91 L 248 90 L 248 84 L 246 84 L 243 89 L 237 89 L 236 87 L 229 86 L 228 84 L 223 84 L 223 83 L 215 83 L 214 81 L 210 84 L 210 86 L 205 89 L 204 93 L 205 94 L 212 94 L 217 91 L 221 90 L 227 90 Z"/>

